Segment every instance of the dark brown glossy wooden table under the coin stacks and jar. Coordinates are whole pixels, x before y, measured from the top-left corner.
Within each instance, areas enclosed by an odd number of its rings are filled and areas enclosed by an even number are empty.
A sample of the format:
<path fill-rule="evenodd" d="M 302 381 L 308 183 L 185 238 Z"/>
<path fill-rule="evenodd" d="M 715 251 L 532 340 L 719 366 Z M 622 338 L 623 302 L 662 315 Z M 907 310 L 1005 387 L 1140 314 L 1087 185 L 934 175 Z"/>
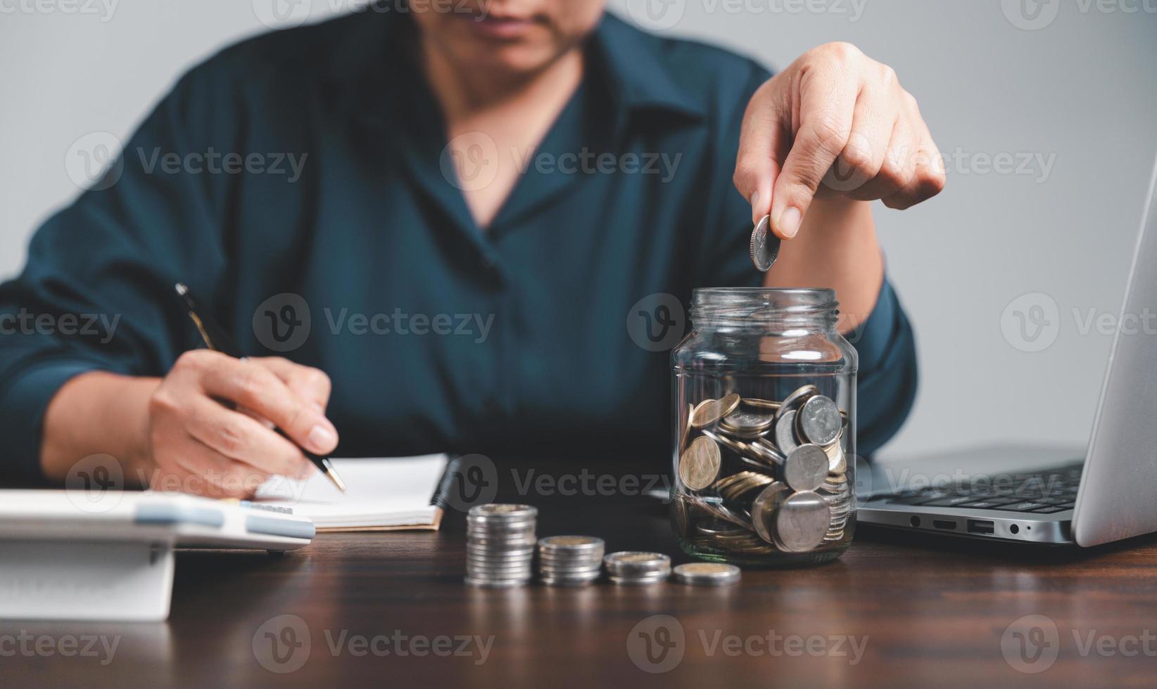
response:
<path fill-rule="evenodd" d="M 537 504 L 540 535 L 676 551 L 655 501 Z M 320 535 L 283 557 L 182 553 L 165 623 L 0 621 L 0 686 L 1091 687 L 1157 671 L 1154 538 L 1025 551 L 861 528 L 838 562 L 747 570 L 731 587 L 488 591 L 462 583 L 463 521 Z M 1025 615 L 1056 636 L 1007 634 Z M 98 640 L 62 654 L 89 638 L 116 640 L 111 661 Z"/>

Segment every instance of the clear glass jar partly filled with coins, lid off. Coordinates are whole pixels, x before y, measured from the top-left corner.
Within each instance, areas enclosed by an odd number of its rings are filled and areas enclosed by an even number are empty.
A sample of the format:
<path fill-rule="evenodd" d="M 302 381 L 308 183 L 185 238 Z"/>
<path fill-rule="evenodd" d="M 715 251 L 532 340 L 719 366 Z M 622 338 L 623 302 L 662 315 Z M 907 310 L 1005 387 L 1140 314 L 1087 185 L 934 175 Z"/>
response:
<path fill-rule="evenodd" d="M 855 531 L 856 350 L 830 289 L 697 289 L 671 353 L 671 525 L 694 557 L 834 560 Z"/>

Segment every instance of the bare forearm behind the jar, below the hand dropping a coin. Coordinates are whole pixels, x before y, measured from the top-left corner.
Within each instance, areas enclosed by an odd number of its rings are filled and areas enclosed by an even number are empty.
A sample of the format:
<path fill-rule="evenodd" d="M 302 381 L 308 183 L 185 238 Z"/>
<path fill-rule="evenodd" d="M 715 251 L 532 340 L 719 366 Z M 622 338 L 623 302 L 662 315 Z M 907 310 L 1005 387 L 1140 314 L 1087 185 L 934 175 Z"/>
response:
<path fill-rule="evenodd" d="M 883 281 L 871 203 L 839 197 L 812 202 L 799 234 L 782 243 L 765 284 L 834 289 L 840 331 L 847 333 L 871 313 Z"/>

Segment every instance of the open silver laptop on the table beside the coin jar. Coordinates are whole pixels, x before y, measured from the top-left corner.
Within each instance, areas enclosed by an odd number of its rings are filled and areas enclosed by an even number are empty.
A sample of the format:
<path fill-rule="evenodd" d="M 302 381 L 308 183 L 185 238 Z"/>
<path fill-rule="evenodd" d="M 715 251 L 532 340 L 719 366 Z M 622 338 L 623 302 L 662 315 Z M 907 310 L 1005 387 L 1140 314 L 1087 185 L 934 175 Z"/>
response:
<path fill-rule="evenodd" d="M 861 465 L 857 520 L 974 539 L 1097 546 L 1157 531 L 1157 168 L 1092 436 L 1081 451 L 993 446 Z M 1132 314 L 1130 319 L 1123 318 Z"/>

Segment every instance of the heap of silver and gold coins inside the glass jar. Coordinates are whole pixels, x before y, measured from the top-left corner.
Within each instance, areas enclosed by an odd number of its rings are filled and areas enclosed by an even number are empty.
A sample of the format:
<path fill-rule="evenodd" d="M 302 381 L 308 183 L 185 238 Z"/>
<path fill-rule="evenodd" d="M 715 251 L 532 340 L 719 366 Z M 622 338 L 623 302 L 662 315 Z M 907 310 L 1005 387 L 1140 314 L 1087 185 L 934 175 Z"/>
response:
<path fill-rule="evenodd" d="M 847 425 L 847 413 L 815 385 L 782 401 L 732 393 L 690 405 L 671 506 L 677 535 L 742 556 L 845 543 L 855 511 Z"/>

